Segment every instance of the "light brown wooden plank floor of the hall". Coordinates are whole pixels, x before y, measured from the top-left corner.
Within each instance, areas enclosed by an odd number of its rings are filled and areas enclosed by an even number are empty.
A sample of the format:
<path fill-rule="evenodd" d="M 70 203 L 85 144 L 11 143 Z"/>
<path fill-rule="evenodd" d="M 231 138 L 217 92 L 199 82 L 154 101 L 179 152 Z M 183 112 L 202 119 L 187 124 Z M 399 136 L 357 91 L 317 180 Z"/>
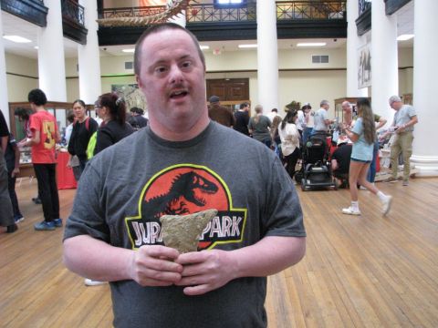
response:
<path fill-rule="evenodd" d="M 298 190 L 308 251 L 269 278 L 269 327 L 438 327 L 438 179 L 377 185 L 394 196 L 386 218 L 366 190 L 360 217 L 340 213 L 348 190 Z M 35 181 L 16 190 L 26 220 L 0 233 L 0 326 L 110 327 L 109 286 L 85 287 L 68 272 L 62 229 L 33 230 Z M 75 190 L 59 195 L 67 218 Z"/>

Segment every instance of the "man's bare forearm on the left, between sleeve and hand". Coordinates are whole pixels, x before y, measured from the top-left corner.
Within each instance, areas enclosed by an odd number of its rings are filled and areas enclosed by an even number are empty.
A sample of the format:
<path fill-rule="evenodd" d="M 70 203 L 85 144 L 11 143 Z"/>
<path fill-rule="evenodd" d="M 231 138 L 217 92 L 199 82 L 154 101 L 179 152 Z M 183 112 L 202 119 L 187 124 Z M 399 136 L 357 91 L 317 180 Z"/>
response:
<path fill-rule="evenodd" d="M 114 247 L 88 235 L 64 241 L 64 263 L 72 272 L 103 282 L 131 279 L 133 251 Z"/>

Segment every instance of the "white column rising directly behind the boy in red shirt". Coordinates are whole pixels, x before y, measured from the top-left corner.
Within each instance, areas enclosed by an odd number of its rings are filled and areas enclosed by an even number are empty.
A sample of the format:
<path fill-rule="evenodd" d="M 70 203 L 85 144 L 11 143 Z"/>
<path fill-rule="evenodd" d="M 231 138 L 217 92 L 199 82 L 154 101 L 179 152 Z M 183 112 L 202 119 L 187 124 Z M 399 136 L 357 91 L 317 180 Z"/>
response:
<path fill-rule="evenodd" d="M 61 2 L 46 0 L 47 26 L 38 29 L 39 87 L 51 101 L 67 101 Z"/>

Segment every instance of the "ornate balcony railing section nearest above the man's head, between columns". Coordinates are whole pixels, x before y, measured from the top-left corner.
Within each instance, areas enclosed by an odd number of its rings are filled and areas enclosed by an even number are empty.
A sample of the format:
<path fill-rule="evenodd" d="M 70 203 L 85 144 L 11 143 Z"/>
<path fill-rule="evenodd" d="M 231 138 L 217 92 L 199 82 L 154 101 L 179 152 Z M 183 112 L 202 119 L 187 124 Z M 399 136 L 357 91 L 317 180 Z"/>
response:
<path fill-rule="evenodd" d="M 255 21 L 256 5 L 244 8 L 214 8 L 210 5 L 189 5 L 186 10 L 187 23 L 245 22 Z"/>

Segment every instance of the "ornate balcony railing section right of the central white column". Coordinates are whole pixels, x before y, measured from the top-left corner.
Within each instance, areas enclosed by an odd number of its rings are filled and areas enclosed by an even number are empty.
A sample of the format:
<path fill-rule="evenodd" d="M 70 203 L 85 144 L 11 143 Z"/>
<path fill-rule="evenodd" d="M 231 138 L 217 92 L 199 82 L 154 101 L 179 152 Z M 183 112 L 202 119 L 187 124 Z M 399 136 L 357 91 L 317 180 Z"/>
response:
<path fill-rule="evenodd" d="M 276 19 L 344 19 L 345 0 L 288 1 L 276 3 Z"/>

